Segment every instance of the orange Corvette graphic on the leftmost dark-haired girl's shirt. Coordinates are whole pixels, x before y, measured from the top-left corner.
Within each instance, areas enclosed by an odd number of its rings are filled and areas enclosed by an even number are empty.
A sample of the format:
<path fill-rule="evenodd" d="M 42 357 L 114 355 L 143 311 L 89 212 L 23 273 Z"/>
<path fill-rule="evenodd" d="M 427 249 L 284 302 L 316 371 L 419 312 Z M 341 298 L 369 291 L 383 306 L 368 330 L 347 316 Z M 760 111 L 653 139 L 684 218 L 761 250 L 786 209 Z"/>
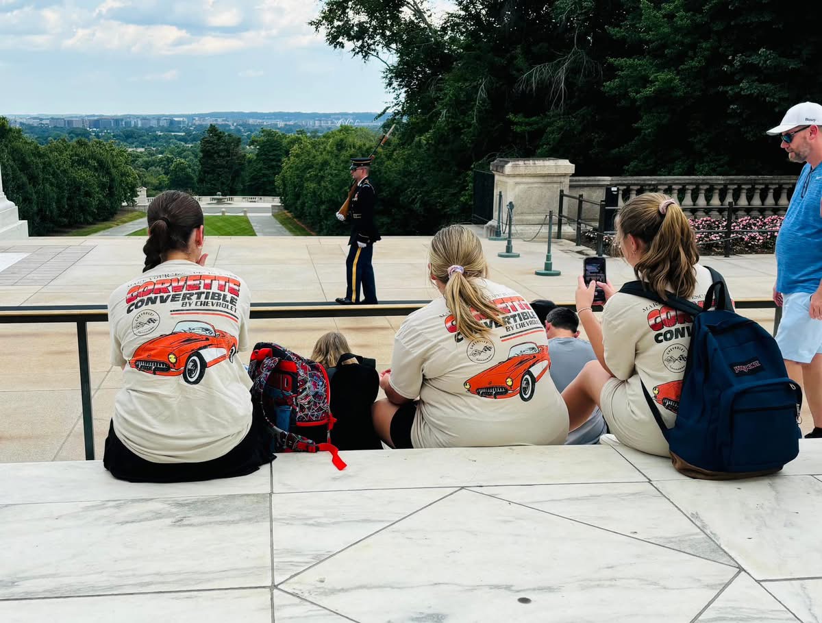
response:
<path fill-rule="evenodd" d="M 141 344 L 128 365 L 149 374 L 180 376 L 196 385 L 205 376 L 205 368 L 233 361 L 237 339 L 216 330 L 208 322 L 180 321 L 174 330 Z"/>

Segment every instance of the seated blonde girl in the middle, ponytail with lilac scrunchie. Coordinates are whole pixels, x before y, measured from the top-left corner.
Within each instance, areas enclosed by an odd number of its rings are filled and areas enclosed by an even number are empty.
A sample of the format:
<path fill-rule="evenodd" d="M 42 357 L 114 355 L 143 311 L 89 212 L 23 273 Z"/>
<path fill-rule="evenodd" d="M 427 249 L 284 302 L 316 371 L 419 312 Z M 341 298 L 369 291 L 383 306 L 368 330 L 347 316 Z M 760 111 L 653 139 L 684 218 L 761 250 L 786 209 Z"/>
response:
<path fill-rule="evenodd" d="M 380 376 L 386 399 L 372 408 L 382 441 L 395 448 L 564 443 L 568 413 L 529 302 L 487 279 L 483 245 L 462 225 L 436 233 L 428 261 L 442 296 L 397 332 L 391 368 Z"/>

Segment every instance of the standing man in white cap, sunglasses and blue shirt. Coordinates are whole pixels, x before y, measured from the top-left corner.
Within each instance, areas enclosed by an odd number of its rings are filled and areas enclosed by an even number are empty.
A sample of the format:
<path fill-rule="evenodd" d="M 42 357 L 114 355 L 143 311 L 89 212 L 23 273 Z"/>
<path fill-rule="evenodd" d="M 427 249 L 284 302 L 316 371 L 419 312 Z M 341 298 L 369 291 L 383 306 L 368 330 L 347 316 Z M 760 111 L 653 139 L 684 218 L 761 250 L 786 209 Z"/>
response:
<path fill-rule="evenodd" d="M 806 437 L 822 438 L 822 105 L 793 106 L 768 134 L 782 139 L 791 162 L 805 163 L 776 241 L 776 341 L 814 418 Z"/>

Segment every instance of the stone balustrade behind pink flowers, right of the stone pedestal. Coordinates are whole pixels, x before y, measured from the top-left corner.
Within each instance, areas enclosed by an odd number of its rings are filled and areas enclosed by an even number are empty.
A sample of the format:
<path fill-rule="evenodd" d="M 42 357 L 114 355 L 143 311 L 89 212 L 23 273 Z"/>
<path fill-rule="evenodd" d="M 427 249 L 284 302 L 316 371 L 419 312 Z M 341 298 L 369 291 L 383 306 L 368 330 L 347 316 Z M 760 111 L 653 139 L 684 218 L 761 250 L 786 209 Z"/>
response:
<path fill-rule="evenodd" d="M 737 216 L 770 216 L 784 213 L 796 182 L 796 176 L 572 177 L 569 192 L 600 201 L 606 187 L 616 186 L 620 205 L 643 192 L 664 192 L 696 218 L 720 218 L 728 201 Z"/>

